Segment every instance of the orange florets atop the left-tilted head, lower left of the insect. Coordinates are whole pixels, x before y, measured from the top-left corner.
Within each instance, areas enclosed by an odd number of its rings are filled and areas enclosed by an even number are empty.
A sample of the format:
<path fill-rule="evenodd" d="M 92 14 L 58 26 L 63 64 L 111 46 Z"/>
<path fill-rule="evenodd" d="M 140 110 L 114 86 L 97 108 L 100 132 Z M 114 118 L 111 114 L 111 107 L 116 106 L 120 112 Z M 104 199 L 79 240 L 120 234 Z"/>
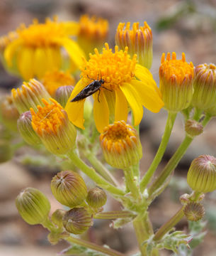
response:
<path fill-rule="evenodd" d="M 38 106 L 37 113 L 35 113 L 32 108 L 30 109 L 32 114 L 32 126 L 39 136 L 42 136 L 44 133 L 57 134 L 59 127 L 64 124 L 65 114 L 64 111 L 62 111 L 62 106 L 52 98 L 50 98 L 50 101 L 52 104 L 42 99 L 45 107 Z"/>

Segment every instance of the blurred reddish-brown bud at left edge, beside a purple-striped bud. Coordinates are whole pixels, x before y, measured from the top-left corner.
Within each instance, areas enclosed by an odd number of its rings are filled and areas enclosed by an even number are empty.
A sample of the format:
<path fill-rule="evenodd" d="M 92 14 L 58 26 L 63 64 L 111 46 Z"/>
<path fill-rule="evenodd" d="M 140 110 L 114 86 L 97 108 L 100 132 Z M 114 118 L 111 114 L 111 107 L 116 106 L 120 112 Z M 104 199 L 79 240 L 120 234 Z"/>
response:
<path fill-rule="evenodd" d="M 12 131 L 17 131 L 16 122 L 20 114 L 13 104 L 11 96 L 6 96 L 1 102 L 0 111 L 5 126 Z"/>

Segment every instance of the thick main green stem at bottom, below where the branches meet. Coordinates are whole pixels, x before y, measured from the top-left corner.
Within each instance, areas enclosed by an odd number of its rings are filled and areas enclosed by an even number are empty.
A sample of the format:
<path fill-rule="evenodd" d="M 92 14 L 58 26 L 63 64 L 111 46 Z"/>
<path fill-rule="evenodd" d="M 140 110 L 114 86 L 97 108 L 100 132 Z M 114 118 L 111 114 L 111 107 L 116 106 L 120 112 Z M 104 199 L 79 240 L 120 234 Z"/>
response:
<path fill-rule="evenodd" d="M 153 235 L 152 223 L 149 220 L 148 212 L 146 211 L 142 215 L 138 215 L 135 220 L 133 220 L 133 226 L 135 228 L 135 233 L 137 236 L 137 241 L 139 243 L 140 252 L 142 256 L 147 256 L 146 246 L 143 242 L 148 240 L 151 235 Z"/>

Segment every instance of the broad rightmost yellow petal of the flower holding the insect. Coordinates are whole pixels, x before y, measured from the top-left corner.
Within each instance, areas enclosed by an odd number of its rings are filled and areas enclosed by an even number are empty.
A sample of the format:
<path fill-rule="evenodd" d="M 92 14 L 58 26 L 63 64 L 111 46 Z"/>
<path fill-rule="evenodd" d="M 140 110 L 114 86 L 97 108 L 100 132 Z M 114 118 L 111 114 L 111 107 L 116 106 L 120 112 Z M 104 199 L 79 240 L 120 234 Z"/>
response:
<path fill-rule="evenodd" d="M 157 113 L 161 110 L 161 107 L 164 106 L 164 102 L 161 100 L 161 97 L 157 90 L 154 87 L 144 84 L 142 81 L 132 80 L 132 86 L 140 95 L 141 103 L 148 110 Z"/>

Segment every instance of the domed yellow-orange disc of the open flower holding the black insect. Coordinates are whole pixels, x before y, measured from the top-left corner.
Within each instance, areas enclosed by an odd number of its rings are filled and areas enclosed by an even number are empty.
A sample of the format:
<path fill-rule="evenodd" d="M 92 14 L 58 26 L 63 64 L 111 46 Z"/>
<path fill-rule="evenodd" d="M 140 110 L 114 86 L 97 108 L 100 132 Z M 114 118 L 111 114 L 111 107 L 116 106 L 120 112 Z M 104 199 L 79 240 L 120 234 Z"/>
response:
<path fill-rule="evenodd" d="M 87 84 L 92 82 L 91 79 L 100 80 L 102 78 L 105 81 L 104 87 L 115 90 L 123 82 L 130 82 L 134 78 L 137 55 L 131 59 L 127 54 L 127 47 L 123 51 L 118 50 L 118 46 L 115 46 L 115 53 L 109 48 L 108 43 L 105 43 L 105 47 L 103 53 L 100 54 L 95 49 L 95 54 L 89 55 L 90 60 L 84 60 L 81 77 L 86 80 Z"/>

